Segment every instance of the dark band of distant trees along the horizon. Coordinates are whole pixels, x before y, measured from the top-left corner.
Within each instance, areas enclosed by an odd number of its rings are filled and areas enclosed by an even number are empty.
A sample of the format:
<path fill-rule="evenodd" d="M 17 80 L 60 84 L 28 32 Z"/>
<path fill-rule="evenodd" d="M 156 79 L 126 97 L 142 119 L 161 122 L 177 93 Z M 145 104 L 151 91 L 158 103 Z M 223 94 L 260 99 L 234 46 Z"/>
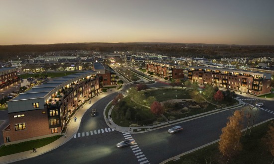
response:
<path fill-rule="evenodd" d="M 113 53 L 130 51 L 157 53 L 174 57 L 273 57 L 274 46 L 182 44 L 182 43 L 62 43 L 0 46 L 0 61 L 20 60 L 44 55 L 46 52 L 79 50 Z M 72 53 L 71 53 L 72 54 Z M 70 55 L 67 53 L 66 55 Z M 9 58 L 8 58 L 9 57 Z"/>

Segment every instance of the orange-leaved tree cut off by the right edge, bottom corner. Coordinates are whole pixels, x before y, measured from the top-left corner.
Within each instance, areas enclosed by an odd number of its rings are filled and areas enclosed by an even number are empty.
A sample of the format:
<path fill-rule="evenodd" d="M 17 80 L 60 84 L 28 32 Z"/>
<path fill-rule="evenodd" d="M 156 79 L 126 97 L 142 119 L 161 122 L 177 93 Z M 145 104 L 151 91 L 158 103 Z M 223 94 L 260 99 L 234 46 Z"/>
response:
<path fill-rule="evenodd" d="M 267 146 L 268 150 L 273 156 L 271 164 L 274 164 L 274 122 L 271 121 L 271 124 L 268 126 L 269 130 L 267 134 L 262 138 L 262 141 Z"/>

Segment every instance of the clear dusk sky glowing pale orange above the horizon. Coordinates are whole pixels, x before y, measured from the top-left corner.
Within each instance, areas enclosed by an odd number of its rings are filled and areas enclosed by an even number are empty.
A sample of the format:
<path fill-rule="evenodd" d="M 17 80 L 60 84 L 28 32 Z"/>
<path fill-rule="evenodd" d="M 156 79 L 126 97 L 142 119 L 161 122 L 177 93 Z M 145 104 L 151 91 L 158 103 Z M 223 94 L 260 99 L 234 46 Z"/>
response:
<path fill-rule="evenodd" d="M 274 0 L 0 0 L 0 45 L 274 45 Z"/>

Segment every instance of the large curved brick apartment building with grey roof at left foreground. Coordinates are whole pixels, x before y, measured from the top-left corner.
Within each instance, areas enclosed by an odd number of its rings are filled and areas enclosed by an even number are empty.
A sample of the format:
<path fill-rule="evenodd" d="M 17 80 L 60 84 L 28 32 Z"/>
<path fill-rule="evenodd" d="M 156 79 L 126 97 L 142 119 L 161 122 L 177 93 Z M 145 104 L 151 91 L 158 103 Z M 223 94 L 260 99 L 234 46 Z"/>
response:
<path fill-rule="evenodd" d="M 10 124 L 2 131 L 5 145 L 60 135 L 75 109 L 102 92 L 102 73 L 63 76 L 8 101 Z"/>

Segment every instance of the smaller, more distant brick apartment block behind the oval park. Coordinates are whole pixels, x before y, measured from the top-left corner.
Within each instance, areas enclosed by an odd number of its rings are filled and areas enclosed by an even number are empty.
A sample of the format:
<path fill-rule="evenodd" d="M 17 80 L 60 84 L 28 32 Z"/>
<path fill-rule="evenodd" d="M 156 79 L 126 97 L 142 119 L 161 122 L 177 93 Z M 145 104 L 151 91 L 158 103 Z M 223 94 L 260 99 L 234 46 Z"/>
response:
<path fill-rule="evenodd" d="M 151 62 L 146 64 L 146 71 L 154 72 L 154 75 L 167 79 L 183 79 L 183 68 L 180 65 L 169 63 Z"/>

